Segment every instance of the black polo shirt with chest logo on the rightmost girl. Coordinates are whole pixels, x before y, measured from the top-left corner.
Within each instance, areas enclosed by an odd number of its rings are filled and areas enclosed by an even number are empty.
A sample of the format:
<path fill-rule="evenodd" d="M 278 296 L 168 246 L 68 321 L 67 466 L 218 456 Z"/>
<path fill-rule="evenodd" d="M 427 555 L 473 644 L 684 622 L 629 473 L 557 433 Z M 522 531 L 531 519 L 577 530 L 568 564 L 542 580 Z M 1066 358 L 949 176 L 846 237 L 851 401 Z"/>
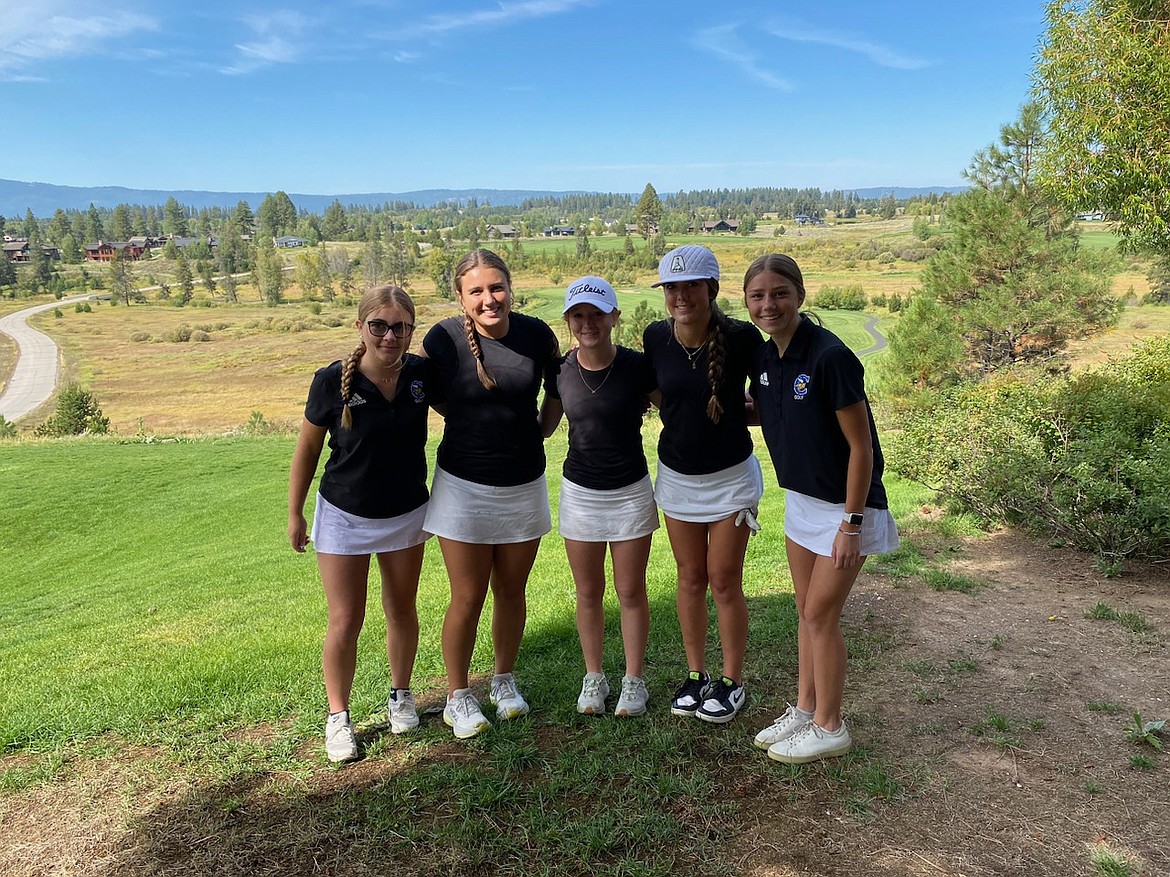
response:
<path fill-rule="evenodd" d="M 874 449 L 874 474 L 866 505 L 886 509 L 886 468 L 878 428 L 866 399 L 861 360 L 835 334 L 800 318 L 784 357 L 765 344 L 756 355 L 751 395 L 782 488 L 826 503 L 844 503 L 849 465 L 837 412 L 866 402 Z"/>

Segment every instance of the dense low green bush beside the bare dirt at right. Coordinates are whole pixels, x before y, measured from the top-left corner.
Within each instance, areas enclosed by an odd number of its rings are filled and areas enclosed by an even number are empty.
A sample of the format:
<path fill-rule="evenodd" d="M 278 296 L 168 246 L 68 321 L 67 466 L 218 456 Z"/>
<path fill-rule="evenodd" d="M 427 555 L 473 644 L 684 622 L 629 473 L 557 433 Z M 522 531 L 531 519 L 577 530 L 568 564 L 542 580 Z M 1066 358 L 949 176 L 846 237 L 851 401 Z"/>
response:
<path fill-rule="evenodd" d="M 958 507 L 1093 552 L 1170 558 L 1170 336 L 1075 378 L 1018 370 L 942 394 L 890 433 L 896 471 Z"/>

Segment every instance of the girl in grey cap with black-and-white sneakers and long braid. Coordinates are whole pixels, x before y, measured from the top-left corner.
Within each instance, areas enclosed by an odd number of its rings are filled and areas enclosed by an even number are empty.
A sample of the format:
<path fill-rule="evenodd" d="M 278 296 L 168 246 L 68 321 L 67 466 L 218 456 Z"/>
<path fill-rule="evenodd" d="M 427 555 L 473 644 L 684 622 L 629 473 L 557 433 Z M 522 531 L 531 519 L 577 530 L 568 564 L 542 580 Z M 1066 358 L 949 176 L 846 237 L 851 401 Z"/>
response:
<path fill-rule="evenodd" d="M 688 665 L 670 711 L 724 723 L 746 699 L 743 559 L 748 537 L 758 529 L 755 515 L 764 481 L 748 434 L 744 388 L 763 339 L 750 323 L 720 310 L 720 267 L 706 247 L 688 244 L 667 253 L 654 285 L 662 286 L 669 315 L 642 336 L 662 413 L 654 498 L 677 565 L 679 624 Z M 722 674 L 714 681 L 704 667 L 708 588 L 723 648 Z"/>

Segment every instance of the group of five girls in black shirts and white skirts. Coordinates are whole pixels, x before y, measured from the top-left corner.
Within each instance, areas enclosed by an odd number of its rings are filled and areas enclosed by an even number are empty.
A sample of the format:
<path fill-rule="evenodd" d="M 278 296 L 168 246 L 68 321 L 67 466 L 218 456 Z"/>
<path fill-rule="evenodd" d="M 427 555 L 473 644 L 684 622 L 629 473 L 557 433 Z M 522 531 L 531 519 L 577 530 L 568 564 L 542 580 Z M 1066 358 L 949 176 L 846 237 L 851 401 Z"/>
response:
<path fill-rule="evenodd" d="M 390 728 L 405 733 L 419 724 L 410 689 L 415 594 L 432 534 L 450 581 L 443 721 L 461 739 L 490 727 L 468 678 L 489 588 L 489 700 L 497 720 L 529 711 L 514 669 L 525 586 L 551 530 L 543 440 L 563 416 L 569 451 L 558 530 L 585 660 L 578 711 L 604 713 L 611 696 L 601 664 L 607 552 L 625 652 L 614 714 L 647 711 L 646 568 L 660 509 L 677 567 L 687 657 L 670 712 L 722 724 L 743 707 L 743 565 L 764 490 L 749 424 L 759 423 L 786 488 L 799 670 L 796 703 L 755 741 L 787 762 L 846 752 L 841 609 L 866 555 L 893 550 L 897 531 L 861 364 L 800 311 L 805 288 L 796 262 L 772 254 L 748 269 L 743 295 L 752 326 L 720 310 L 720 269 L 710 250 L 690 244 L 667 253 L 654 284 L 662 288 L 667 318 L 646 327 L 641 352 L 614 344 L 618 299 L 600 277 L 581 277 L 565 290 L 572 348 L 564 357 L 548 325 L 512 310 L 511 275 L 495 253 L 467 254 L 454 286 L 461 315 L 431 327 L 421 357 L 407 352 L 415 322 L 410 296 L 397 286 L 371 289 L 358 305 L 357 347 L 318 371 L 309 392 L 291 467 L 289 538 L 297 551 L 311 538 L 328 603 L 328 757 L 359 754 L 349 697 L 371 555 L 386 614 Z M 641 440 L 651 403 L 662 421 L 653 482 Z M 445 420 L 429 496 L 428 408 Z M 310 537 L 304 504 L 326 437 L 330 455 Z M 722 650 L 714 676 L 706 667 L 708 593 Z"/>

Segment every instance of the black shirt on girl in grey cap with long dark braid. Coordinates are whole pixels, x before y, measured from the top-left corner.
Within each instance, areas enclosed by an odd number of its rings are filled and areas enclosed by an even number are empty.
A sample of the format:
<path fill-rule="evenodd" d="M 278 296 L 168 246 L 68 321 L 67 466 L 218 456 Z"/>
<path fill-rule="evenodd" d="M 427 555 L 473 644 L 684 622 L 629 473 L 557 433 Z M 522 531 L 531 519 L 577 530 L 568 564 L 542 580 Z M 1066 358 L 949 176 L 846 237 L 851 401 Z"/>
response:
<path fill-rule="evenodd" d="M 713 423 L 707 416 L 711 395 L 707 382 L 710 344 L 694 360 L 688 360 L 669 320 L 651 323 L 642 333 L 642 348 L 662 393 L 659 458 L 683 475 L 717 472 L 742 463 L 751 454 L 744 388 L 756 350 L 764 341 L 750 323 L 727 317 L 723 336 L 723 381 L 718 391 L 723 415 L 718 423 Z"/>

